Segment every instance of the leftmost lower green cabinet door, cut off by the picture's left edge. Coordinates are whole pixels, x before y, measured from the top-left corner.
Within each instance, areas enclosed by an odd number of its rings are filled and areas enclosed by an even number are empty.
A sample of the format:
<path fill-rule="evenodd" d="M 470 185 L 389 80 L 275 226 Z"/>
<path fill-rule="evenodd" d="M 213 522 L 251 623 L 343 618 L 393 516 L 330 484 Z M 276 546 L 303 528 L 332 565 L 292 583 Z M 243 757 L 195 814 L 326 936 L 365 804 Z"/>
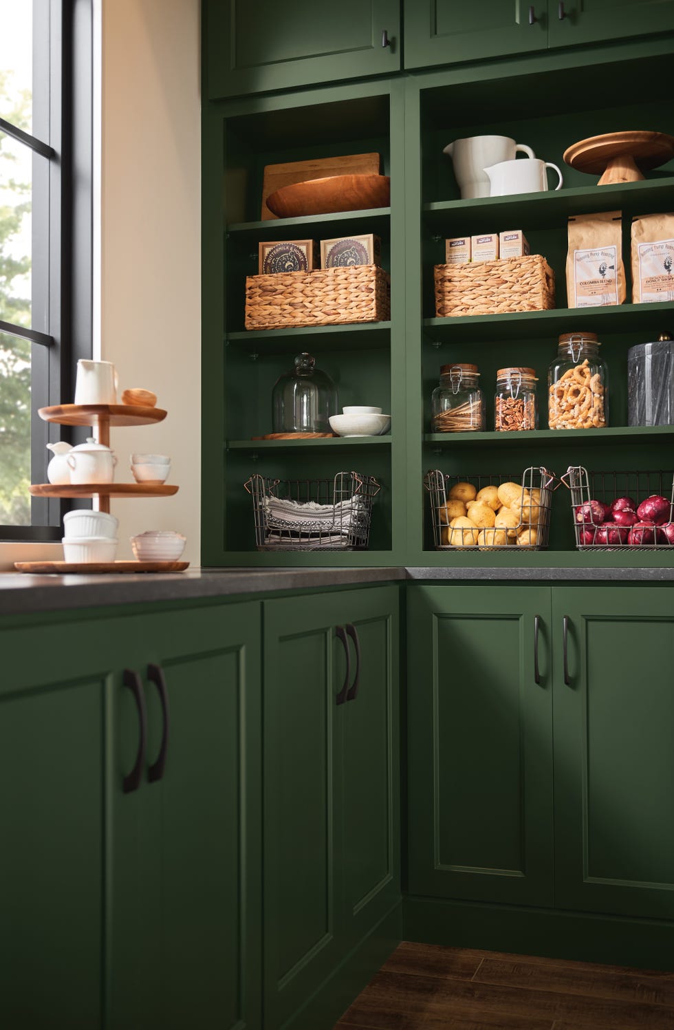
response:
<path fill-rule="evenodd" d="M 0 632 L 0 1024 L 96 1030 L 110 967 L 106 890 L 138 713 L 120 675 L 130 620 L 51 622 Z M 117 765 L 112 713 L 123 708 L 129 765 Z M 122 842 L 117 842 L 119 845 Z"/>

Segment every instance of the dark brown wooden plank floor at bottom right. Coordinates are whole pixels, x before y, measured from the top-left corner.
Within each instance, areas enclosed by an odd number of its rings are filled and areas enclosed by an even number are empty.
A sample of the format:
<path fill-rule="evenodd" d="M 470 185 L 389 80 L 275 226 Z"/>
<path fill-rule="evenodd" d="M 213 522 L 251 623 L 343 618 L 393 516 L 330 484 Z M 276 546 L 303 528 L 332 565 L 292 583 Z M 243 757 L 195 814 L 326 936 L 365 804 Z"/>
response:
<path fill-rule="evenodd" d="M 674 973 L 403 942 L 338 1028 L 674 1030 Z"/>

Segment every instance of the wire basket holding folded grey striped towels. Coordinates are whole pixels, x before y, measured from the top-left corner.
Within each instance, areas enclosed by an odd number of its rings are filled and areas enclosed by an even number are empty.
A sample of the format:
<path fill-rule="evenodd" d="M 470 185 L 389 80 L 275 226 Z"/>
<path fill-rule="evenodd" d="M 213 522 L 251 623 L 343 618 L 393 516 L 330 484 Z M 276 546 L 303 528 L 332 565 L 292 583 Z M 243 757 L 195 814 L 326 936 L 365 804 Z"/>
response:
<path fill-rule="evenodd" d="M 258 551 L 364 551 L 373 501 L 381 486 L 374 476 L 338 472 L 333 479 L 271 479 L 244 483 L 253 499 Z"/>

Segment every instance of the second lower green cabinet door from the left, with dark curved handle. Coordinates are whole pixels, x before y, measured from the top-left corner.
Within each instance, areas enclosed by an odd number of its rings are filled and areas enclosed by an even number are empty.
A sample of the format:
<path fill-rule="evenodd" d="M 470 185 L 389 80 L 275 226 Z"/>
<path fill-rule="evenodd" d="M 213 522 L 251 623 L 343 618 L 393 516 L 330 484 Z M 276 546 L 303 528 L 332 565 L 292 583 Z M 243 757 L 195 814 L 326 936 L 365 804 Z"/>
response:
<path fill-rule="evenodd" d="M 133 856 L 145 923 L 138 1026 L 256 1030 L 260 606 L 141 616 L 138 633 L 148 716 Z"/>

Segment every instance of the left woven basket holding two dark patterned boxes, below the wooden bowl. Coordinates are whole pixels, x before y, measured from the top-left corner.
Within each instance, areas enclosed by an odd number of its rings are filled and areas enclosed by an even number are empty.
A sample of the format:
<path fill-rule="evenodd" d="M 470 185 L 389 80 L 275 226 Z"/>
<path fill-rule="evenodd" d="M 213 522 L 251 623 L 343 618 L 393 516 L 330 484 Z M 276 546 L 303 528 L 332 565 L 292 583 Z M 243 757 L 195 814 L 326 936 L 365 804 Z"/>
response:
<path fill-rule="evenodd" d="M 246 329 L 387 321 L 391 280 L 377 265 L 246 277 Z"/>

